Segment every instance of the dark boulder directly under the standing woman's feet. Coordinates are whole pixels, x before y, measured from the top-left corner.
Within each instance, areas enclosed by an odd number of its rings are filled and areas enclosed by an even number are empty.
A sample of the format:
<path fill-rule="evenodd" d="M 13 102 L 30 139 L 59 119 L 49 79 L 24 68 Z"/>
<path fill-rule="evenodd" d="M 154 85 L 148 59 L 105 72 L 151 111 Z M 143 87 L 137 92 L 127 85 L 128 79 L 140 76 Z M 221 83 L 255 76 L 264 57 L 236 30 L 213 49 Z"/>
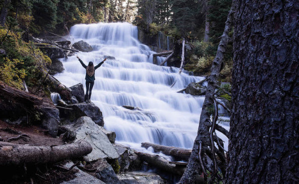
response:
<path fill-rule="evenodd" d="M 68 109 L 60 109 L 60 118 L 74 122 L 78 118 L 88 116 L 100 126 L 104 126 L 103 114 L 94 103 L 78 103 L 66 106 Z"/>

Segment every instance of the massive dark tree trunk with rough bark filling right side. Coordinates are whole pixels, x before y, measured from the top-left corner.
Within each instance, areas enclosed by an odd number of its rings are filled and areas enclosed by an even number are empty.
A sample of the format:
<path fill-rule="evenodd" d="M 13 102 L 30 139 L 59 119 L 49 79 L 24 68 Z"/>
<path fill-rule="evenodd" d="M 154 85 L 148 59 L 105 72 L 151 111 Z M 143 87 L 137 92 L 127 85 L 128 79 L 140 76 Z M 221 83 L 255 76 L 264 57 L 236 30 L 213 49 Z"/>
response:
<path fill-rule="evenodd" d="M 298 0 L 236 1 L 228 184 L 299 182 Z"/>

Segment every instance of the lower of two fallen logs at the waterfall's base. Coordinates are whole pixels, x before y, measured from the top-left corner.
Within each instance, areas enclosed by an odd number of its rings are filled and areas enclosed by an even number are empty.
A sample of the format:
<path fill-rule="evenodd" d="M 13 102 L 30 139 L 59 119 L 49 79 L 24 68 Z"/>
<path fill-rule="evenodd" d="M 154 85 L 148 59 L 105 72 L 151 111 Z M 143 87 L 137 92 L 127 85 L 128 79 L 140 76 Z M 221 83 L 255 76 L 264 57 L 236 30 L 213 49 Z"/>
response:
<path fill-rule="evenodd" d="M 169 161 L 163 159 L 158 155 L 150 155 L 148 153 L 135 152 L 138 158 L 147 162 L 150 166 L 158 168 L 164 172 L 171 173 L 174 175 L 182 176 L 185 168 L 175 167 L 175 164 L 169 164 Z"/>

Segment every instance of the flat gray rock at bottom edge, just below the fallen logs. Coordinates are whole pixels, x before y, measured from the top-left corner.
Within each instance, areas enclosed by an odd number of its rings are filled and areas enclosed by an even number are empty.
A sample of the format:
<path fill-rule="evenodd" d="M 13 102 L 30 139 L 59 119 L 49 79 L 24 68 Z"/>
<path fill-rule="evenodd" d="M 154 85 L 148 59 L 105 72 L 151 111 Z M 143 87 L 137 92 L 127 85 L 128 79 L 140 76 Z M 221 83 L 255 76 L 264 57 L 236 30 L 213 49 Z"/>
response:
<path fill-rule="evenodd" d="M 128 172 L 118 175 L 121 184 L 166 184 L 157 174 L 148 172 Z"/>

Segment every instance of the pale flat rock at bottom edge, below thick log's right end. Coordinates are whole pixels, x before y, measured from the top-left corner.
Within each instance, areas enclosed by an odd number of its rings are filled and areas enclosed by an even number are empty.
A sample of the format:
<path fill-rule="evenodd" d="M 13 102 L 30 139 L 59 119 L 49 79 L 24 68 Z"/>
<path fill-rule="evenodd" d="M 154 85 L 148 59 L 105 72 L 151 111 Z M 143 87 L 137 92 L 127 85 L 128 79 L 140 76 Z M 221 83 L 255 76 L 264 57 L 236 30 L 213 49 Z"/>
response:
<path fill-rule="evenodd" d="M 64 165 L 65 168 L 70 168 L 74 165 L 73 162 L 68 162 Z M 76 178 L 73 180 L 62 182 L 61 184 L 105 184 L 101 180 L 79 170 L 77 167 L 74 167 L 78 172 L 75 174 Z"/>

